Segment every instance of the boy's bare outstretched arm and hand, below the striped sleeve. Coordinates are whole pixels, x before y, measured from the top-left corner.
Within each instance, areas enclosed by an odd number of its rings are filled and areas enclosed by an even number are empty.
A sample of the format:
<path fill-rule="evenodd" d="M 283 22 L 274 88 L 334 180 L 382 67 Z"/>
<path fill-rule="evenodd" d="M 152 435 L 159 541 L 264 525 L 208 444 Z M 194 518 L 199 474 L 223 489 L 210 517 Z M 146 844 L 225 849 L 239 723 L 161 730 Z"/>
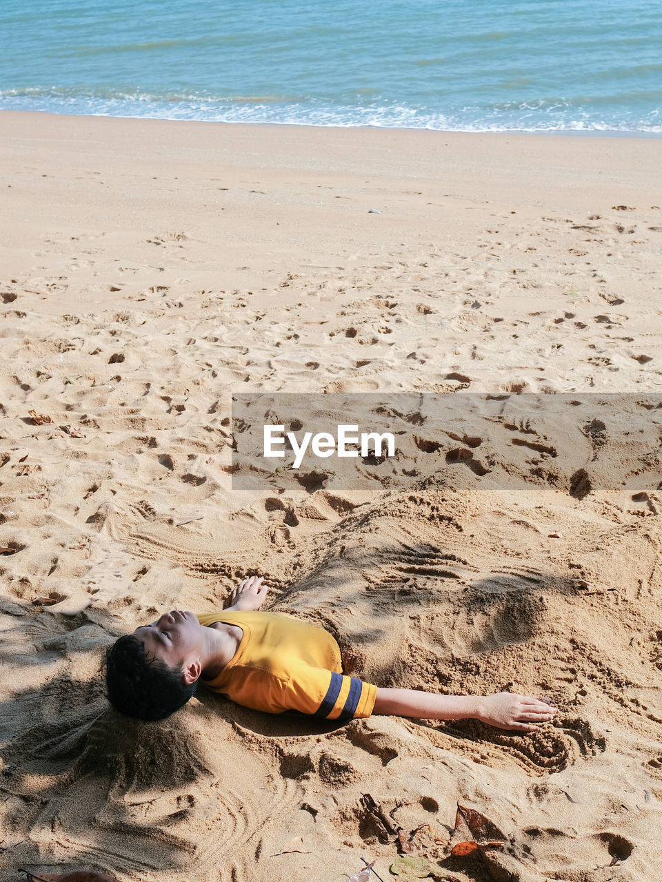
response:
<path fill-rule="evenodd" d="M 437 695 L 418 689 L 377 688 L 372 714 L 395 714 L 423 720 L 475 719 L 498 729 L 533 732 L 548 722 L 556 708 L 545 701 L 511 692 L 495 695 Z"/>

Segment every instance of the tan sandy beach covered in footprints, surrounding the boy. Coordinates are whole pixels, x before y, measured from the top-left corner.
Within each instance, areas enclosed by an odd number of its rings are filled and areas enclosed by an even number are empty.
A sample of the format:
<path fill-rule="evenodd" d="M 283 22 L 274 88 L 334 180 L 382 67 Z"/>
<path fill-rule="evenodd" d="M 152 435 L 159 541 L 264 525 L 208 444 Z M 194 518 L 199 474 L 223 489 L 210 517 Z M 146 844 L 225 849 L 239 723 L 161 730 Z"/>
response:
<path fill-rule="evenodd" d="M 432 827 L 434 878 L 662 878 L 658 142 L 0 131 L 3 882 L 395 878 L 365 793 Z M 447 461 L 462 421 L 417 418 L 361 486 L 233 490 L 233 392 L 475 392 L 488 471 Z M 517 392 L 603 416 L 515 419 Z M 256 572 L 355 676 L 545 695 L 558 719 L 322 726 L 202 691 L 150 726 L 109 710 L 117 635 Z M 504 846 L 448 858 L 458 802 Z"/>

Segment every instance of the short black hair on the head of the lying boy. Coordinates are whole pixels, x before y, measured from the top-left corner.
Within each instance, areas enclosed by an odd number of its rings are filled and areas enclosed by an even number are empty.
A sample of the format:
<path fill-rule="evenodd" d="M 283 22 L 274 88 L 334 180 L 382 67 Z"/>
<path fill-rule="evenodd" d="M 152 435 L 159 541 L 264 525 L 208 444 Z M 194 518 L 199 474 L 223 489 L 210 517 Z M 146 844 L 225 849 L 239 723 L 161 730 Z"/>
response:
<path fill-rule="evenodd" d="M 178 668 L 150 657 L 133 634 L 106 650 L 106 685 L 112 706 L 136 720 L 163 720 L 191 698 L 197 683 L 187 684 Z"/>

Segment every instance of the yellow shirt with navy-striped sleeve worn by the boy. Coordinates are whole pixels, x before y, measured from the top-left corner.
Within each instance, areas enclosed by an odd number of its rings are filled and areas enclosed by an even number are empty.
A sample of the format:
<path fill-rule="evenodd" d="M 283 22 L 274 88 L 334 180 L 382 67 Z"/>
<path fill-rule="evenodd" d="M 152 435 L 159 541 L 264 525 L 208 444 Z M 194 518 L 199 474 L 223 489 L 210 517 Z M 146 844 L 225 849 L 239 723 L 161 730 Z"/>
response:
<path fill-rule="evenodd" d="M 207 688 L 238 705 L 269 714 L 288 710 L 327 720 L 368 717 L 377 687 L 342 675 L 335 639 L 315 624 L 279 612 L 210 612 L 203 625 L 223 622 L 244 632 L 237 652 Z"/>

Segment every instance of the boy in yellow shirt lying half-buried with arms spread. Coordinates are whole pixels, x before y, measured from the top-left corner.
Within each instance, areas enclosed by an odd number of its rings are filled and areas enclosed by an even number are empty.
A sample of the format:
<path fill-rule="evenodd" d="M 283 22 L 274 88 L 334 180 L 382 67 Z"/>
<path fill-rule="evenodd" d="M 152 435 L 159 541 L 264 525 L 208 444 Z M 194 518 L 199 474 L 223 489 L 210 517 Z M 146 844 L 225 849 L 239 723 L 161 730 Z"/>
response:
<path fill-rule="evenodd" d="M 285 613 L 259 612 L 262 579 L 244 579 L 218 613 L 173 609 L 120 637 L 106 654 L 110 703 L 139 720 L 162 720 L 199 683 L 254 710 L 300 711 L 345 721 L 371 714 L 425 720 L 473 717 L 499 729 L 531 732 L 556 708 L 526 695 L 437 695 L 382 689 L 342 675 L 340 649 L 323 628 Z"/>

